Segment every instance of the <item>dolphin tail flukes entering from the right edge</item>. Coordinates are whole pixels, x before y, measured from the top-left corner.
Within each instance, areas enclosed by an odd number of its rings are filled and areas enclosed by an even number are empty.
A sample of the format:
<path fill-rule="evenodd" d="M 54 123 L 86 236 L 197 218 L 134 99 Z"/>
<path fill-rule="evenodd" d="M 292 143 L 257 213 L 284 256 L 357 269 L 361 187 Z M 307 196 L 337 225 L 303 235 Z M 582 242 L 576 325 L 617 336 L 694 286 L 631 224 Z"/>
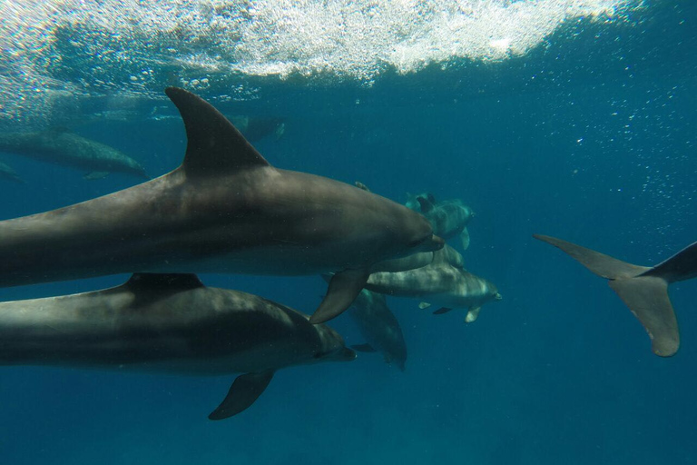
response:
<path fill-rule="evenodd" d="M 680 331 L 668 296 L 668 285 L 697 277 L 697 242 L 653 267 L 622 262 L 555 237 L 533 234 L 572 256 L 588 270 L 610 280 L 610 287 L 642 322 L 653 353 L 670 357 L 680 347 Z"/>

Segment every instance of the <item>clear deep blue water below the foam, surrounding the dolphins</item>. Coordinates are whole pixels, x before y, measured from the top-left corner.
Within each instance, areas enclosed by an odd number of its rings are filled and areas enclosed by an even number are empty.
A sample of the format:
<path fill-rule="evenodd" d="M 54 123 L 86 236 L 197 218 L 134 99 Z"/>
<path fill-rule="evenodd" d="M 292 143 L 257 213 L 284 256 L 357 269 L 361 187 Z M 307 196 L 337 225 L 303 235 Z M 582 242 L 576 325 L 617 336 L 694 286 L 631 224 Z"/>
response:
<path fill-rule="evenodd" d="M 643 265 L 697 240 L 697 8 L 644 2 L 627 16 L 577 19 L 501 61 L 386 70 L 368 84 L 242 76 L 256 94 L 230 102 L 216 102 L 215 86 L 201 90 L 224 113 L 287 118 L 279 141 L 256 143 L 276 166 L 359 180 L 399 202 L 430 191 L 471 205 L 466 267 L 495 282 L 504 300 L 466 324 L 464 312 L 433 316 L 418 302 L 388 299 L 407 340 L 406 372 L 372 354 L 292 367 L 248 411 L 217 422 L 206 416 L 232 376 L 4 368 L 2 462 L 696 463 L 697 282 L 671 287 L 682 346 L 661 359 L 604 280 L 532 238 L 555 235 Z M 76 86 L 85 70 L 73 80 L 63 68 L 55 73 Z M 153 100 L 154 86 L 148 91 L 136 99 L 136 116 L 85 114 L 74 130 L 159 175 L 181 163 L 185 135 L 178 118 L 143 116 L 153 105 L 176 115 L 163 97 Z M 86 182 L 69 168 L 2 160 L 26 181 L 0 184 L 2 219 L 135 183 L 120 174 Z M 125 279 L 2 289 L 0 299 Z M 311 276 L 201 279 L 303 312 L 326 290 Z M 348 317 L 329 324 L 348 343 L 362 342 Z"/>

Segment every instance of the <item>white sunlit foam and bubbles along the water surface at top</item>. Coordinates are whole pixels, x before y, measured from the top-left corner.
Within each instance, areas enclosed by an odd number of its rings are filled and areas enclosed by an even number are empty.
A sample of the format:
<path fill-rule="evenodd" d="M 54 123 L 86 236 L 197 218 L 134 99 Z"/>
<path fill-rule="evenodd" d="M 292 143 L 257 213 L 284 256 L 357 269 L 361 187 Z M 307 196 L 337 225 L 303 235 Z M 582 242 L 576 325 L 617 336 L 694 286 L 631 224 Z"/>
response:
<path fill-rule="evenodd" d="M 613 22 L 640 0 L 34 0 L 0 3 L 4 105 L 46 87 L 157 92 L 226 76 L 370 83 L 386 70 L 528 53 L 564 23 Z M 71 34 L 65 34 L 68 31 Z M 56 69 L 72 60 L 75 76 Z M 68 69 L 68 72 L 70 69 Z M 172 79 L 175 82 L 172 82 Z M 64 82 L 64 81 L 70 82 Z M 232 82 L 233 80 L 231 80 Z M 244 94 L 244 91 L 242 91 Z"/>

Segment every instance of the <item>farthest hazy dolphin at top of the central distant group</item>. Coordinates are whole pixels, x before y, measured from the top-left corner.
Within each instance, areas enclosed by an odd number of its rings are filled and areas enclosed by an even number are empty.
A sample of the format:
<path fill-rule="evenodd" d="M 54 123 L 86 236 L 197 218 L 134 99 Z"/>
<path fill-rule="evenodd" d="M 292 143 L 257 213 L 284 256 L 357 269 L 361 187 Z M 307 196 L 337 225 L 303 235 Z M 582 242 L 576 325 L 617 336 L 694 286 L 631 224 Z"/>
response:
<path fill-rule="evenodd" d="M 417 202 L 421 205 L 421 213 L 433 226 L 434 234 L 446 241 L 459 235 L 462 249 L 467 250 L 469 247 L 467 224 L 475 215 L 471 208 L 456 199 L 432 203 L 426 197 L 417 196 Z"/>

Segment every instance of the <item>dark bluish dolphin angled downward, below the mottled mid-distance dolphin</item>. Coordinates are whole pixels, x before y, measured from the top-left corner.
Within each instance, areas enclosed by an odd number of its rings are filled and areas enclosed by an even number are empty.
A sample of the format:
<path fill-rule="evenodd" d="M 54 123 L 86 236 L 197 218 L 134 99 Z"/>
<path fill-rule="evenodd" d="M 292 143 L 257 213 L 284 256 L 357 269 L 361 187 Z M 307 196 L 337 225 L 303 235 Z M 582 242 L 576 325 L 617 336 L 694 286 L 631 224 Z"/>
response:
<path fill-rule="evenodd" d="M 385 296 L 364 289 L 358 294 L 348 314 L 358 325 L 365 344 L 352 346 L 357 351 L 380 351 L 387 363 L 395 363 L 404 371 L 407 344 L 397 317 L 390 312 Z"/>

